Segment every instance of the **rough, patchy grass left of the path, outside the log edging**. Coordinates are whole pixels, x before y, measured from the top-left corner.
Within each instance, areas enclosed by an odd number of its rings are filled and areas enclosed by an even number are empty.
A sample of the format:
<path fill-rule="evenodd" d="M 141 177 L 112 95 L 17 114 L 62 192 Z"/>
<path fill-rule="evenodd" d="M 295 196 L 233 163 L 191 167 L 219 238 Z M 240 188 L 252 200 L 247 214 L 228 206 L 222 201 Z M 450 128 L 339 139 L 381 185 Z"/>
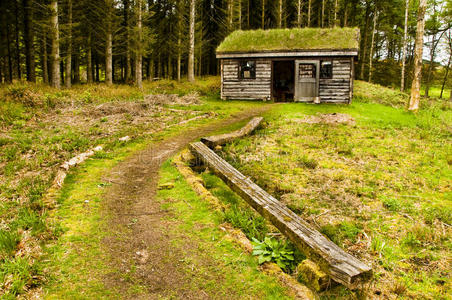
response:
<path fill-rule="evenodd" d="M 196 84 L 161 80 L 144 84 L 144 91 L 127 85 L 75 85 L 54 90 L 34 84 L 0 87 L 0 294 L 16 296 L 39 287 L 53 276 L 42 268 L 43 247 L 62 233 L 59 220 L 49 221 L 54 207 L 43 201 L 60 164 L 75 155 L 103 145 L 97 158 L 127 146 L 118 138 L 130 136 L 146 144 L 184 128 L 228 117 L 259 103 L 224 102 L 217 93 L 217 78 L 199 79 Z M 149 93 L 185 94 L 197 92 L 197 106 L 145 104 Z M 174 126 L 206 112 L 200 119 Z M 172 127 L 168 127 L 172 126 Z M 20 254 L 24 253 L 24 255 Z M 6 271 L 24 261 L 42 274 Z M 7 268 L 7 269 L 2 269 Z M 9 272 L 9 271 L 8 271 Z"/>

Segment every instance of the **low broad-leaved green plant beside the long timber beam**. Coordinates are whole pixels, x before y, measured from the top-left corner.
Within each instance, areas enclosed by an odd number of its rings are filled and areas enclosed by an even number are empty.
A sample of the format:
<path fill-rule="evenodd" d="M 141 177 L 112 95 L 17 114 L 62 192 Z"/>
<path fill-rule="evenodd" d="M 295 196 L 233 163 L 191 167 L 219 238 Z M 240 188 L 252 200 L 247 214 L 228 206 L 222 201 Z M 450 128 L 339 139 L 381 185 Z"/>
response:
<path fill-rule="evenodd" d="M 281 269 L 291 271 L 299 261 L 299 252 L 287 242 L 266 237 L 262 242 L 253 238 L 253 255 L 258 257 L 259 264 L 272 261 Z"/>

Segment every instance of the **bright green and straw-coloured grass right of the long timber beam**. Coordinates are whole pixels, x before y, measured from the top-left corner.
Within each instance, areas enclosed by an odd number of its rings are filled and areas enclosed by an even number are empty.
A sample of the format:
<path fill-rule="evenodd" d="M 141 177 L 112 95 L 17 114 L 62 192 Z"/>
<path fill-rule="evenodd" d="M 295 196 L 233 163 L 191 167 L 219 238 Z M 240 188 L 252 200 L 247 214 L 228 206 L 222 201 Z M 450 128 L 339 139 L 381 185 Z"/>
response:
<path fill-rule="evenodd" d="M 363 82 L 355 95 L 348 106 L 277 106 L 220 154 L 371 264 L 370 295 L 450 298 L 452 109 L 422 99 L 412 114 L 406 95 Z M 300 122 L 333 112 L 356 125 Z"/>

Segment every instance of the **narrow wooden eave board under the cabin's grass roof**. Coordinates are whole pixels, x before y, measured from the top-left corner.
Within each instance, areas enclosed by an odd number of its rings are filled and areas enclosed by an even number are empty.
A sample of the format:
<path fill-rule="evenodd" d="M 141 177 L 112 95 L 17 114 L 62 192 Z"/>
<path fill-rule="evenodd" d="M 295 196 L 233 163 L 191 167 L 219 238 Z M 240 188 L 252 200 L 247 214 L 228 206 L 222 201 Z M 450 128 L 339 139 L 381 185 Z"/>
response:
<path fill-rule="evenodd" d="M 259 51 L 259 52 L 217 52 L 217 58 L 284 58 L 315 56 L 358 56 L 356 49 L 303 50 L 303 51 Z"/>

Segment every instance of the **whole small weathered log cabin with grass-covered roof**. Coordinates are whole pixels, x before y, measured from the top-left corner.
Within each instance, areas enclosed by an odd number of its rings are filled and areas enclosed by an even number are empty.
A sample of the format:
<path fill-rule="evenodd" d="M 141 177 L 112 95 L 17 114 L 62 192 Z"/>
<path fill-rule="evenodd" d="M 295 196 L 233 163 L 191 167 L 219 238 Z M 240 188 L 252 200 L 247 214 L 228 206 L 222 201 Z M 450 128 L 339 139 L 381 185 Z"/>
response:
<path fill-rule="evenodd" d="M 234 31 L 218 46 L 221 98 L 350 103 L 357 28 Z"/>

